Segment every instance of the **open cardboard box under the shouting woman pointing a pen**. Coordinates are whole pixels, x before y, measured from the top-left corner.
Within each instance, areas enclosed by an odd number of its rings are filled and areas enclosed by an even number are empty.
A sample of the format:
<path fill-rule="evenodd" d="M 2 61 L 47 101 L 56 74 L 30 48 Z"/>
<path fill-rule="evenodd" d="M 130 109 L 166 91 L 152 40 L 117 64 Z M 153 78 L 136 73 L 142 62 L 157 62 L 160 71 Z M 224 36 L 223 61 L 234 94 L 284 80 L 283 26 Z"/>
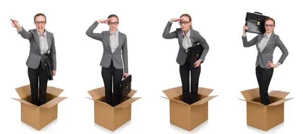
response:
<path fill-rule="evenodd" d="M 37 130 L 57 119 L 58 103 L 67 98 L 58 97 L 62 89 L 47 86 L 46 103 L 36 106 L 31 103 L 30 85 L 17 88 L 16 91 L 21 99 L 12 99 L 21 102 L 21 121 Z"/>

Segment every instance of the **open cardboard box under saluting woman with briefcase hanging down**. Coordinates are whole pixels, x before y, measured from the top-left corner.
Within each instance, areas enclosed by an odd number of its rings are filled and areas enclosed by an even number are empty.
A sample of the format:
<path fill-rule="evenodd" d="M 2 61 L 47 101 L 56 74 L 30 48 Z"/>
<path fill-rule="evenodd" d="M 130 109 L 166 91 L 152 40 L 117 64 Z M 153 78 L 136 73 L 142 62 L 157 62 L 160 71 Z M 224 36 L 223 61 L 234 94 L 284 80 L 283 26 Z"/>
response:
<path fill-rule="evenodd" d="M 138 98 L 131 98 L 137 91 L 131 90 L 127 97 L 117 106 L 112 107 L 105 102 L 105 88 L 97 88 L 87 91 L 94 101 L 94 122 L 111 131 L 115 131 L 120 126 L 131 119 L 131 103 Z"/>

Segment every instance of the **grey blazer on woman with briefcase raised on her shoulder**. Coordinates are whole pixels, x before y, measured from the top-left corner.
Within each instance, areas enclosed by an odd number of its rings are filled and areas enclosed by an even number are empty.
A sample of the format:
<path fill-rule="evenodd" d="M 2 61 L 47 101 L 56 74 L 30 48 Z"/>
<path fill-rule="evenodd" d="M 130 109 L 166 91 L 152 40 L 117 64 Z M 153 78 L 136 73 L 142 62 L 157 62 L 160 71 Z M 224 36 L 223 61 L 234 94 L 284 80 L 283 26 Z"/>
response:
<path fill-rule="evenodd" d="M 247 36 L 245 36 L 245 37 L 242 36 L 243 46 L 250 47 L 255 44 L 259 44 L 261 42 L 262 38 L 263 38 L 263 34 L 258 34 L 255 38 L 253 38 L 247 42 Z M 286 47 L 280 40 L 279 36 L 274 33 L 272 33 L 272 35 L 270 36 L 268 43 L 266 44 L 266 46 L 264 47 L 262 52 L 260 52 L 258 45 L 256 45 L 256 46 L 257 46 L 257 50 L 258 50 L 256 66 L 260 65 L 261 68 L 264 68 L 264 69 L 268 68 L 268 66 L 266 66 L 267 61 L 273 62 L 273 53 L 274 53 L 276 46 L 278 46 L 282 51 L 282 55 L 278 61 L 279 63 L 282 64 L 288 55 L 288 50 L 286 49 Z"/>

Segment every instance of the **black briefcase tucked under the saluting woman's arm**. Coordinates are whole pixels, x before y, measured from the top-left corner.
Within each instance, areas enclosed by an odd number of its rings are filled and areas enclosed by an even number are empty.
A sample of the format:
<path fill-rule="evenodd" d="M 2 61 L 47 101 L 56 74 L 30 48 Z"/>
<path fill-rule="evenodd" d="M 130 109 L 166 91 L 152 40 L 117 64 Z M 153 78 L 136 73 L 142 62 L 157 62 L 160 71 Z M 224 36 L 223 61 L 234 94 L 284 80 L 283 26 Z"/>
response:
<path fill-rule="evenodd" d="M 194 42 L 191 47 L 188 47 L 187 61 L 189 64 L 189 68 L 193 68 L 195 66 L 194 63 L 199 60 L 203 49 L 203 46 L 199 42 Z M 203 61 L 201 63 L 203 63 Z"/>

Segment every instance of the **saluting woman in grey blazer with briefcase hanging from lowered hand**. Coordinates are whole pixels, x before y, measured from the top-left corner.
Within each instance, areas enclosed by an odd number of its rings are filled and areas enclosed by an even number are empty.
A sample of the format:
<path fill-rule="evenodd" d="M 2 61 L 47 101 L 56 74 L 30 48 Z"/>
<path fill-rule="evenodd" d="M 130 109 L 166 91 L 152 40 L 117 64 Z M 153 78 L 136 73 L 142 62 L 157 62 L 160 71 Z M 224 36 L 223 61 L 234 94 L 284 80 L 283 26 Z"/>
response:
<path fill-rule="evenodd" d="M 102 33 L 93 33 L 99 23 L 108 24 L 110 30 Z M 95 21 L 86 31 L 88 37 L 99 40 L 103 44 L 103 56 L 100 66 L 102 66 L 101 74 L 105 87 L 105 101 L 113 107 L 120 103 L 119 84 L 124 76 L 128 77 L 127 38 L 125 34 L 118 31 L 118 25 L 118 16 L 110 15 L 107 20 Z M 112 84 L 114 91 L 113 100 Z"/>

